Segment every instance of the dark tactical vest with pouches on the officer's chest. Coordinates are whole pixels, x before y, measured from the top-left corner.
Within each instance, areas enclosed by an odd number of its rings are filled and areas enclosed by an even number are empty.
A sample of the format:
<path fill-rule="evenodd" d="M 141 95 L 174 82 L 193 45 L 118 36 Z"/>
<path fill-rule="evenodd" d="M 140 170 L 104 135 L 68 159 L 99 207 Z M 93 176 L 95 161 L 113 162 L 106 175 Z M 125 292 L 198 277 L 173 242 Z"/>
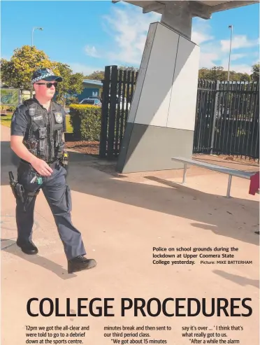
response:
<path fill-rule="evenodd" d="M 29 133 L 24 136 L 24 145 L 33 155 L 45 162 L 58 160 L 64 150 L 62 106 L 52 102 L 48 113 L 34 99 L 28 99 L 24 104 L 30 121 Z"/>

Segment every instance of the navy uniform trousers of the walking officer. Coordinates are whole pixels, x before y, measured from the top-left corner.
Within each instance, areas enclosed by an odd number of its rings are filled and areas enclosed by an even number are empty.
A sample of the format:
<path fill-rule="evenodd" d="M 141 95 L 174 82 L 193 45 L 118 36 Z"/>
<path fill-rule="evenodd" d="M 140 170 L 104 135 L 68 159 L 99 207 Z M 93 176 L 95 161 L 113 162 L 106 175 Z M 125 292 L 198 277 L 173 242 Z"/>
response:
<path fill-rule="evenodd" d="M 86 251 L 81 233 L 71 221 L 71 190 L 66 183 L 67 171 L 59 163 L 52 164 L 51 167 L 52 175 L 50 177 L 42 176 L 42 184 L 37 188 L 43 190 L 45 199 L 55 218 L 66 258 L 71 260 L 78 255 L 85 255 Z M 25 195 L 31 191 L 31 176 L 35 173 L 36 171 L 31 167 L 31 164 L 20 162 L 17 169 L 17 181 L 23 185 Z M 17 239 L 19 241 L 28 241 L 32 238 L 36 197 L 31 199 L 26 211 L 24 211 L 22 200 L 16 199 Z"/>

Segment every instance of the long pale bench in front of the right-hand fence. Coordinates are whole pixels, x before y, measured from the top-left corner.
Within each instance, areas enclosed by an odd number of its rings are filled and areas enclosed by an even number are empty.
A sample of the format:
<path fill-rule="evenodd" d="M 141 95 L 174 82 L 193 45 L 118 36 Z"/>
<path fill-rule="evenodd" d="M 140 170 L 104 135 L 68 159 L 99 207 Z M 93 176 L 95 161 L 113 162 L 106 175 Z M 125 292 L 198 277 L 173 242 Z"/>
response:
<path fill-rule="evenodd" d="M 172 157 L 171 160 L 184 164 L 182 183 L 185 183 L 185 180 L 186 180 L 187 165 L 194 165 L 195 167 L 209 169 L 212 171 L 217 171 L 219 173 L 229 175 L 229 182 L 228 182 L 228 186 L 226 190 L 226 197 L 230 197 L 232 176 L 246 178 L 247 180 L 250 180 L 251 176 L 255 174 L 255 172 L 246 172 L 246 171 L 240 171 L 236 169 L 230 169 L 227 167 L 219 167 L 219 165 L 200 162 L 197 160 L 190 160 L 189 158 L 184 158 L 184 157 Z"/>

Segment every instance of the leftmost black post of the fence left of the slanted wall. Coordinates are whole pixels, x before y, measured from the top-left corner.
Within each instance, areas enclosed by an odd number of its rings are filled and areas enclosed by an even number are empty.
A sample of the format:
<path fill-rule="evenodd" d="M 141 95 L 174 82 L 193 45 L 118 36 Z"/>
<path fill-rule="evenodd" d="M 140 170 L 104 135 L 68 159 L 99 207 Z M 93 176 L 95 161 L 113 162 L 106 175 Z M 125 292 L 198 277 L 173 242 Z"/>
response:
<path fill-rule="evenodd" d="M 108 136 L 108 104 L 109 104 L 110 66 L 105 66 L 102 108 L 101 108 L 101 131 L 99 141 L 99 156 L 106 157 L 106 142 Z"/>

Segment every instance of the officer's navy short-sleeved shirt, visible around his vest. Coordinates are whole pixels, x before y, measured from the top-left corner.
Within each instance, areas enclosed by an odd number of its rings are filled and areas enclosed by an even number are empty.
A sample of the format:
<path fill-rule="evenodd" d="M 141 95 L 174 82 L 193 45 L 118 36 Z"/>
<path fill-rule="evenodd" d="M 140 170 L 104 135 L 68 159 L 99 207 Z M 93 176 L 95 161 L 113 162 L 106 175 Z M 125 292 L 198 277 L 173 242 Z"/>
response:
<path fill-rule="evenodd" d="M 38 103 L 38 101 L 35 98 L 34 98 L 34 101 Z M 52 102 L 52 104 L 54 104 L 54 102 Z M 43 108 L 43 106 L 41 107 Z M 45 108 L 43 109 L 46 111 Z M 51 112 L 57 110 L 55 109 L 54 106 L 51 106 L 50 109 L 51 109 Z M 25 104 L 20 104 L 15 109 L 15 112 L 13 113 L 13 117 L 12 117 L 12 122 L 10 125 L 11 135 L 24 136 L 25 134 L 29 132 L 30 120 L 29 120 L 29 115 L 27 115 L 26 113 L 26 110 L 27 110 L 27 106 L 25 106 Z M 64 108 L 62 108 L 60 111 L 62 112 L 62 118 L 63 118 L 62 132 L 66 132 L 66 114 L 65 114 Z"/>

